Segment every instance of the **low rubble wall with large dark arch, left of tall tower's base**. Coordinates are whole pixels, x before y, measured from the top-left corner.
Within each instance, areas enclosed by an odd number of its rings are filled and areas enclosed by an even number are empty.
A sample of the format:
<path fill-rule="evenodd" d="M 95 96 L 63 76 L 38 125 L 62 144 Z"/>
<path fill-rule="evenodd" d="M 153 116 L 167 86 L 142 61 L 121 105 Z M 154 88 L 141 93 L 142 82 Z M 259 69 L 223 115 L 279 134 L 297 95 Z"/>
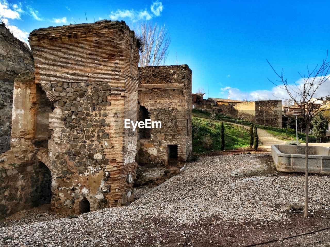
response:
<path fill-rule="evenodd" d="M 17 162 L 12 155 L 0 163 L 0 219 L 19 210 L 49 204 L 51 200 L 51 172 L 35 159 Z M 1 161 L 4 161 L 1 159 Z"/>

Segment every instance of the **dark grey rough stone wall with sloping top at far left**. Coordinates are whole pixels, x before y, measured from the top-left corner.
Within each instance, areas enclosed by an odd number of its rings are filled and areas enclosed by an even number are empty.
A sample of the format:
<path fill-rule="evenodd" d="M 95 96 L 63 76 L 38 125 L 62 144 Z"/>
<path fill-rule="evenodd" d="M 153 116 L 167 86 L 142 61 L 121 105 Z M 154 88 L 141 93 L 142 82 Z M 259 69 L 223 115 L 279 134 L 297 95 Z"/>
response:
<path fill-rule="evenodd" d="M 28 46 L 17 40 L 0 24 L 0 154 L 9 150 L 12 123 L 14 79 L 33 71 L 33 57 Z"/>

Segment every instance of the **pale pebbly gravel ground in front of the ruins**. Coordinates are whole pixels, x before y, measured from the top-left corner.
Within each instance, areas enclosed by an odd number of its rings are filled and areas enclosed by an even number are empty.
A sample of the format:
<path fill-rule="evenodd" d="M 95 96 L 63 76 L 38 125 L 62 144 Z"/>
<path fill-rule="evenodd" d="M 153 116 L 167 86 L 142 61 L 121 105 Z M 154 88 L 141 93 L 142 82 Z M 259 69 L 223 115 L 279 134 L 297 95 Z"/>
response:
<path fill-rule="evenodd" d="M 267 237 L 263 229 L 271 231 L 272 239 L 280 234 L 274 229 L 297 221 L 281 206 L 303 203 L 301 196 L 274 187 L 272 181 L 276 178 L 276 185 L 303 193 L 304 177 L 273 176 L 269 164 L 262 162 L 265 157 L 269 154 L 201 157 L 130 206 L 73 219 L 6 223 L 0 228 L 0 246 L 243 246 Z M 313 175 L 309 181 L 311 198 L 330 205 L 330 176 Z M 310 207 L 314 214 L 329 212 L 314 202 Z M 303 229 L 308 224 L 301 225 Z"/>

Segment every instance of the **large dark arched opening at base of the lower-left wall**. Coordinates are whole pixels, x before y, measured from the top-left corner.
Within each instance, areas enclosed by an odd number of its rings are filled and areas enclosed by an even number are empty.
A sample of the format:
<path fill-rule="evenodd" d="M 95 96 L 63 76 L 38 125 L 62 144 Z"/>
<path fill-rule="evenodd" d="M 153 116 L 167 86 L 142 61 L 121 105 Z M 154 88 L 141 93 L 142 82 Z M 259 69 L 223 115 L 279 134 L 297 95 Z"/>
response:
<path fill-rule="evenodd" d="M 34 176 L 31 178 L 30 192 L 32 207 L 50 204 L 51 201 L 51 172 L 45 163 L 37 161 L 34 164 Z"/>

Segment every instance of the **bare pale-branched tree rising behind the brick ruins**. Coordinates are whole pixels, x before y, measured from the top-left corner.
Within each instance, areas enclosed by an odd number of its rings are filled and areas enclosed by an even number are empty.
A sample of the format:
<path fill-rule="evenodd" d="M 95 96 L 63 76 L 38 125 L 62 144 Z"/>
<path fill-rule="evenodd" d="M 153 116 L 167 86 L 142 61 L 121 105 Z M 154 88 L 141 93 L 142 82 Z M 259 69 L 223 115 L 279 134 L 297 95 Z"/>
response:
<path fill-rule="evenodd" d="M 152 25 L 151 21 L 139 22 L 137 36 L 141 39 L 139 65 L 164 65 L 171 42 L 165 24 L 159 26 L 157 23 Z"/>

